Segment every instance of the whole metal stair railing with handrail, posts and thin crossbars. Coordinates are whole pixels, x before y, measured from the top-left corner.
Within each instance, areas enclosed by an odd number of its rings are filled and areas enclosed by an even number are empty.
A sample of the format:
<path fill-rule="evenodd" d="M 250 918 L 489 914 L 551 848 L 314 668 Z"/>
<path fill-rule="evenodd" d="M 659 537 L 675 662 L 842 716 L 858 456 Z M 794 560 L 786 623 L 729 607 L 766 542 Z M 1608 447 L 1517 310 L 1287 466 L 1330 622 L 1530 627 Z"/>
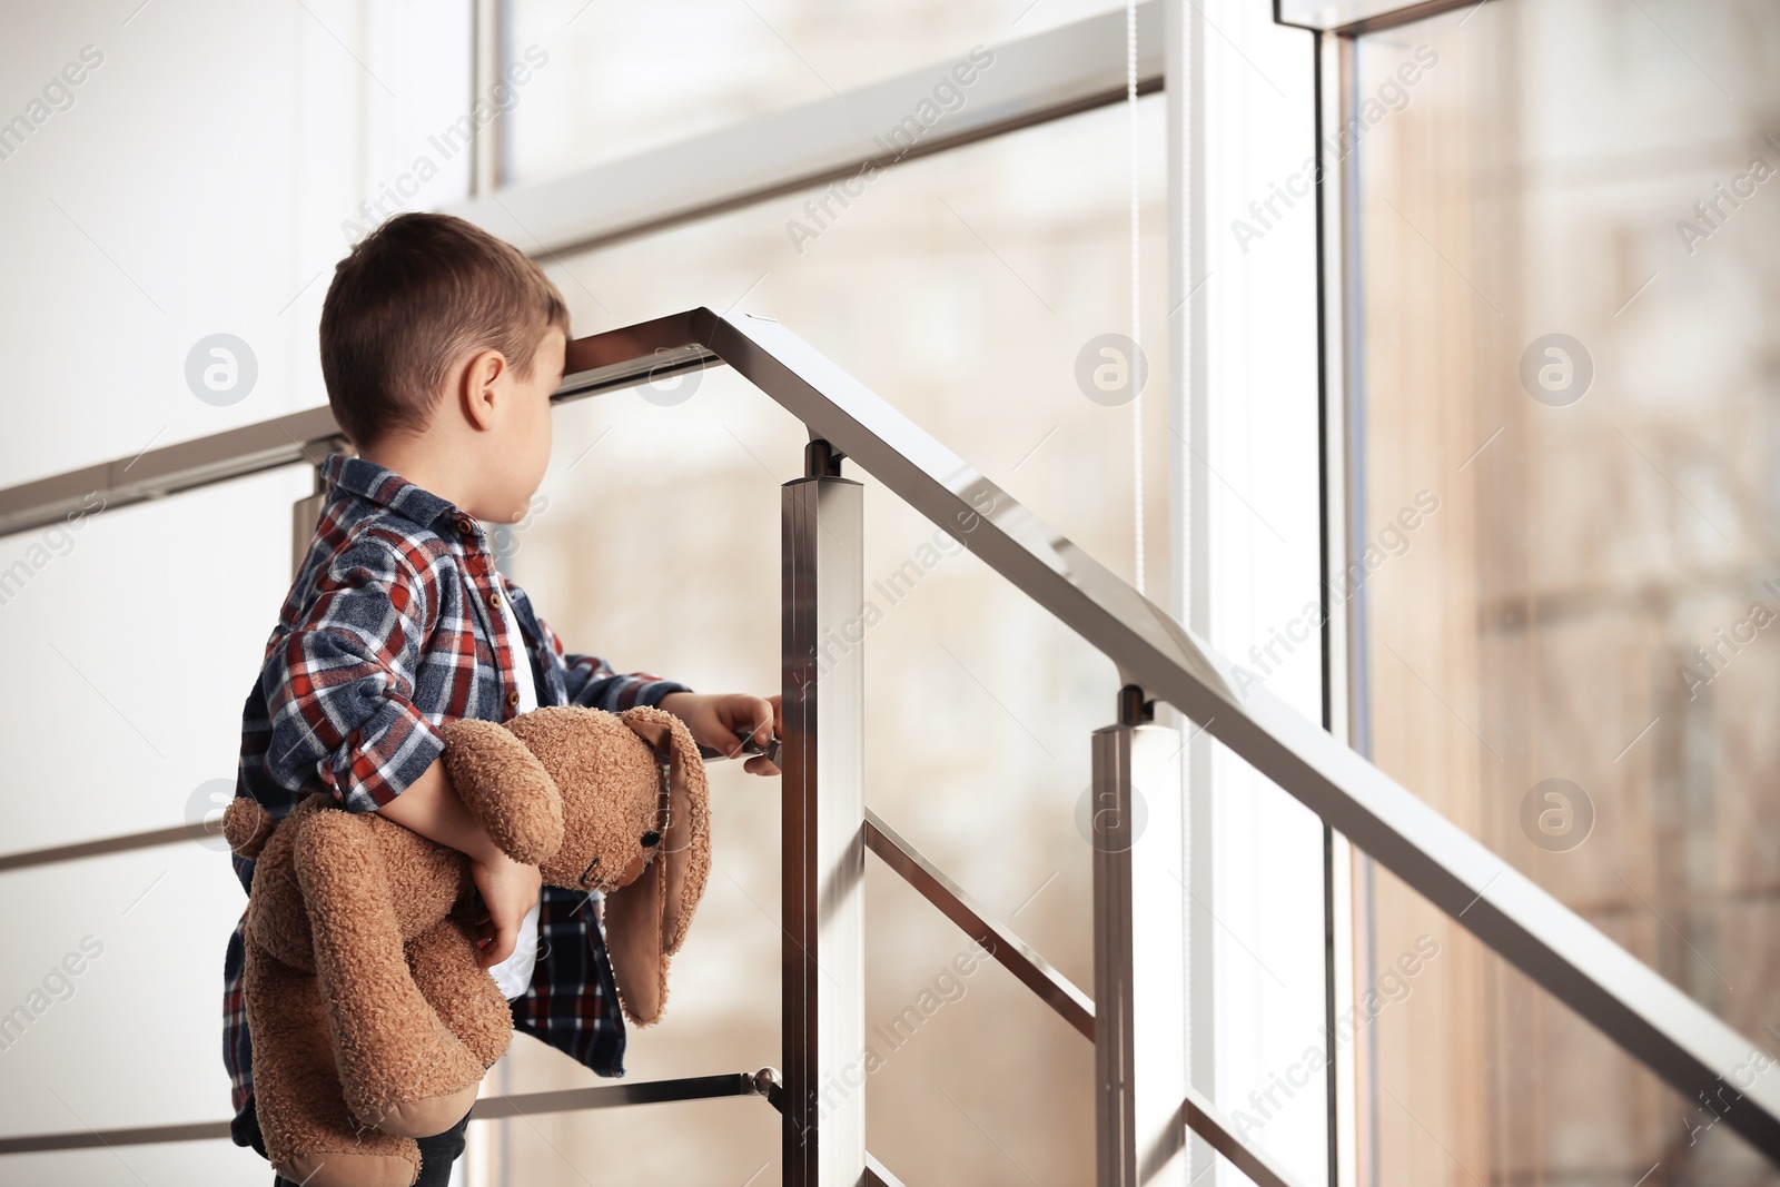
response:
<path fill-rule="evenodd" d="M 1182 804 L 1146 795 L 1146 836 L 1132 835 L 1139 787 L 1178 788 L 1178 733 L 1153 724 L 1157 701 L 1273 779 L 1488 949 L 1565 1002 L 1689 1100 L 1780 1164 L 1780 1071 L 1755 1043 L 1607 940 L 1488 847 L 1310 723 L 1264 685 L 1237 694 L 1232 667 L 1203 641 L 895 408 L 769 319 L 689 310 L 568 345 L 557 400 L 728 365 L 810 432 L 805 473 L 781 495 L 783 1078 L 771 1068 L 657 1084 L 536 1093 L 479 1103 L 513 1116 L 698 1096 L 765 1096 L 781 1114 L 783 1182 L 796 1187 L 895 1183 L 865 1150 L 865 851 L 988 949 L 1068 1025 L 1095 1043 L 1100 1187 L 1185 1187 L 1177 1157 L 1191 1130 L 1262 1187 L 1296 1180 L 1185 1080 L 1182 1032 L 1185 890 L 1164 876 L 1184 856 Z M 57 521 L 91 491 L 107 507 L 162 498 L 297 461 L 338 443 L 326 408 L 294 413 L 135 459 L 0 491 L 0 534 Z M 1075 630 L 1120 673 L 1116 721 L 1093 735 L 1095 997 L 1045 963 L 1004 922 L 865 806 L 862 648 L 824 655 L 863 605 L 862 486 L 851 459 L 952 534 L 1025 596 Z M 304 500 L 310 502 L 310 500 Z M 299 516 L 301 518 L 301 516 Z M 310 521 L 313 514 L 310 514 Z M 306 527 L 299 523 L 306 536 Z M 183 840 L 157 829 L 0 858 L 0 872 Z M 1727 1102 L 1725 1093 L 1730 1093 Z M 838 1096 L 838 1100 L 835 1100 Z M 228 1123 L 0 1139 L 0 1153 L 100 1143 L 224 1137 Z"/>

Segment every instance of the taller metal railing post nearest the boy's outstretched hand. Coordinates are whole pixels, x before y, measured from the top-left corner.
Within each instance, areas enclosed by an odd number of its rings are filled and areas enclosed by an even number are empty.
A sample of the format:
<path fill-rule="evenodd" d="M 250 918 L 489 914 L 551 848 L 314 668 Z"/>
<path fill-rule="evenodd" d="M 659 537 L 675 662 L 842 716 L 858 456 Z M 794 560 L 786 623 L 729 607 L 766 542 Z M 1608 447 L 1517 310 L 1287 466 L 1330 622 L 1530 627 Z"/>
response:
<path fill-rule="evenodd" d="M 783 1182 L 865 1175 L 865 488 L 810 441 L 781 488 Z"/>

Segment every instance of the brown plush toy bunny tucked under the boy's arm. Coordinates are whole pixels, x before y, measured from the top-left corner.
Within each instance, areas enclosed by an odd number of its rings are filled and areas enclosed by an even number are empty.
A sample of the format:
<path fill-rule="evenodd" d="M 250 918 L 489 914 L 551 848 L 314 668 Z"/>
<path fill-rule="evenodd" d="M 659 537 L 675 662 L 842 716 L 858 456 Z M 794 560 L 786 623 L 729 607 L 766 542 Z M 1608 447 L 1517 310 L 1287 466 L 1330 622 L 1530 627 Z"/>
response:
<path fill-rule="evenodd" d="M 443 726 L 452 787 L 543 881 L 605 895 L 625 1014 L 660 1016 L 668 957 L 710 872 L 705 767 L 685 724 L 637 707 Z M 276 828 L 251 797 L 224 835 L 255 858 L 244 995 L 260 1132 L 308 1187 L 408 1187 L 415 1137 L 468 1112 L 513 1013 L 472 936 L 470 860 L 310 795 Z"/>

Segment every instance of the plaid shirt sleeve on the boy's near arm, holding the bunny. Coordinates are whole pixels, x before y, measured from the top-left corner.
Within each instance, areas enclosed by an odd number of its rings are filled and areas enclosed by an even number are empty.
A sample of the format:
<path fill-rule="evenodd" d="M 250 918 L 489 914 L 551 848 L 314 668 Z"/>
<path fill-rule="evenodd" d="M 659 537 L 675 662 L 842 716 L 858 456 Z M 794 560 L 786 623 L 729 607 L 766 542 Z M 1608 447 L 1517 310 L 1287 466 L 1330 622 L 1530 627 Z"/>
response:
<path fill-rule="evenodd" d="M 271 717 L 265 771 L 299 790 L 317 778 L 347 812 L 400 795 L 443 749 L 409 699 L 436 600 L 392 541 L 347 545 L 260 674 Z"/>

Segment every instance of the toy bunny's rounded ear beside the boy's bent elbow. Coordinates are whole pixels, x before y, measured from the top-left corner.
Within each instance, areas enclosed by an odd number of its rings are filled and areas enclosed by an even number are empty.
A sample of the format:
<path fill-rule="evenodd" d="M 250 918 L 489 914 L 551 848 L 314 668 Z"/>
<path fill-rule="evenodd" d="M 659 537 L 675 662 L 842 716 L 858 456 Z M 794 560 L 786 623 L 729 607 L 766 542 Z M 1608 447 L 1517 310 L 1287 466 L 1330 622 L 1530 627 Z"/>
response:
<path fill-rule="evenodd" d="M 465 717 L 443 728 L 452 788 L 514 861 L 538 865 L 562 845 L 562 792 L 506 726 Z"/>

